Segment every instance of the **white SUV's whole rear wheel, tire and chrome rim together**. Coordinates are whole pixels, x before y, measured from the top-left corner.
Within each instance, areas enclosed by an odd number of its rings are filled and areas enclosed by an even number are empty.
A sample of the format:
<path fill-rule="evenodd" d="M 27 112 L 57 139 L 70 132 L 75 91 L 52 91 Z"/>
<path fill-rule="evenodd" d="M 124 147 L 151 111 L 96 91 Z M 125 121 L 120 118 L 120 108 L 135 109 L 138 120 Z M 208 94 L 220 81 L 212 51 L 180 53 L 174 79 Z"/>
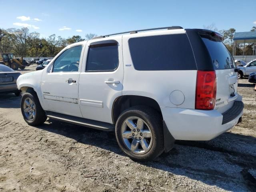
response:
<path fill-rule="evenodd" d="M 116 140 L 132 160 L 154 160 L 164 151 L 160 114 L 147 106 L 128 108 L 116 122 Z"/>

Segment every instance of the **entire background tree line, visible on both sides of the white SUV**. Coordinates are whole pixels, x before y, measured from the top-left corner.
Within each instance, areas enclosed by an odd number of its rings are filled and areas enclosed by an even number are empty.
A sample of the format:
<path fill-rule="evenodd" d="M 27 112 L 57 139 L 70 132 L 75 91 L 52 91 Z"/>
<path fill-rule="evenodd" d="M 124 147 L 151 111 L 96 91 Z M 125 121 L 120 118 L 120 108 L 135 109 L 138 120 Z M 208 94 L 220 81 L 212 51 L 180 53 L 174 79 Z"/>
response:
<path fill-rule="evenodd" d="M 224 37 L 224 44 L 232 53 L 233 50 L 233 36 L 236 30 L 230 28 L 228 30 L 218 30 L 215 24 L 204 26 L 205 29 L 214 30 L 222 34 Z M 256 27 L 252 27 L 251 31 L 256 31 Z M 0 53 L 13 52 L 16 57 L 54 57 L 60 50 L 69 44 L 90 40 L 96 34 L 86 34 L 85 39 L 79 35 L 74 35 L 70 38 L 62 38 L 52 34 L 48 38 L 41 38 L 38 32 L 29 32 L 28 28 L 10 28 L 0 29 Z M 40 46 L 42 45 L 42 46 Z M 236 45 L 236 55 L 252 55 L 255 44 Z"/>

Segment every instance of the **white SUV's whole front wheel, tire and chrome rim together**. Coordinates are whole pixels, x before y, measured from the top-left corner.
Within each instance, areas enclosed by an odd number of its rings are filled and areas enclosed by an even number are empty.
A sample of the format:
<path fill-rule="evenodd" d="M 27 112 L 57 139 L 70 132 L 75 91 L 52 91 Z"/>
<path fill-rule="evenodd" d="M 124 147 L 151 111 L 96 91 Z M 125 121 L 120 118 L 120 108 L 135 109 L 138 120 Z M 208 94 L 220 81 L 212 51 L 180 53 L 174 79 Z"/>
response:
<path fill-rule="evenodd" d="M 46 115 L 36 93 L 25 93 L 20 102 L 20 108 L 27 124 L 37 126 L 46 121 Z"/>

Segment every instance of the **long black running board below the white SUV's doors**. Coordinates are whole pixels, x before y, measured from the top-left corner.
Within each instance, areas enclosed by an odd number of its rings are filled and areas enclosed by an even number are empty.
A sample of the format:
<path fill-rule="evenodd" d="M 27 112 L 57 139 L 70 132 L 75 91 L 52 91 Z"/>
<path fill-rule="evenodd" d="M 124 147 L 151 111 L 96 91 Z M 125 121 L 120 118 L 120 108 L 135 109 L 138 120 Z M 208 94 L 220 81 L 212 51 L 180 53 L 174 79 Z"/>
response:
<path fill-rule="evenodd" d="M 90 120 L 90 119 L 85 119 L 81 117 L 75 117 L 71 115 L 65 115 L 65 114 L 60 114 L 60 113 L 50 112 L 50 111 L 46 111 L 45 113 L 46 113 L 46 116 L 50 119 L 55 119 L 55 120 L 63 121 L 66 123 L 76 124 L 84 127 L 103 130 L 103 131 L 115 130 L 114 124 L 110 124 L 106 122 L 100 122 L 96 120 Z"/>

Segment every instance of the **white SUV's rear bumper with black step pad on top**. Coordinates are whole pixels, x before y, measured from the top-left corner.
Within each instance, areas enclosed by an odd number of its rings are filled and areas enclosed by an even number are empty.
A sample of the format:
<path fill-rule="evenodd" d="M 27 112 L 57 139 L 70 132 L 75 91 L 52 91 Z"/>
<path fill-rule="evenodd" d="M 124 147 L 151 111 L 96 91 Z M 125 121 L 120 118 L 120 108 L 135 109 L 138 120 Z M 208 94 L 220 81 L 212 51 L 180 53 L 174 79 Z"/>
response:
<path fill-rule="evenodd" d="M 230 110 L 194 110 L 161 107 L 169 132 L 176 140 L 211 140 L 233 128 L 243 114 L 242 101 L 235 101 Z"/>

